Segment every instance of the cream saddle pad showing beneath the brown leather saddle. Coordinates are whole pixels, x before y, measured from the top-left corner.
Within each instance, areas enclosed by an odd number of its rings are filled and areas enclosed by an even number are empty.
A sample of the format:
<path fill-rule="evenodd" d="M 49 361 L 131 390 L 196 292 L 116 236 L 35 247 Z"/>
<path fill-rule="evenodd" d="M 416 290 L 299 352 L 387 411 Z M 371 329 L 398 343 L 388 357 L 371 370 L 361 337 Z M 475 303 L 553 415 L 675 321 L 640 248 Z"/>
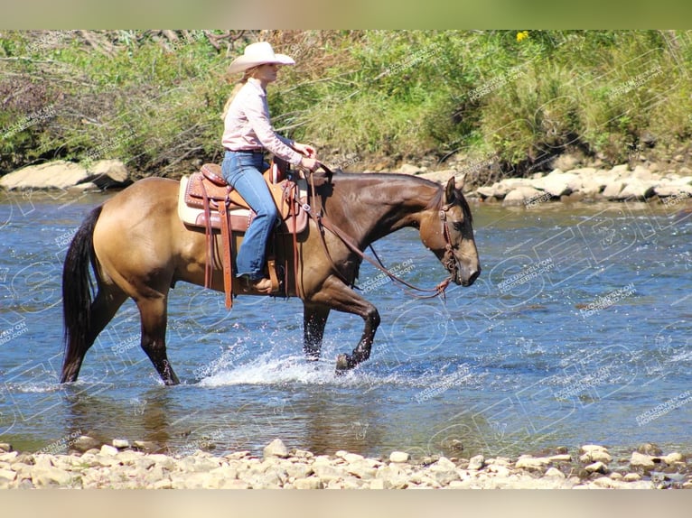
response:
<path fill-rule="evenodd" d="M 300 181 L 304 182 L 304 180 Z M 207 217 L 204 214 L 204 208 L 190 207 L 189 205 L 187 205 L 187 203 L 185 203 L 185 200 L 187 198 L 186 194 L 190 190 L 189 182 L 190 177 L 188 176 L 183 176 L 180 180 L 180 189 L 178 191 L 178 217 L 181 218 L 183 223 L 185 223 L 186 225 L 190 225 L 191 227 L 206 227 Z M 303 186 L 300 187 L 302 188 Z M 301 195 L 302 194 L 303 190 L 301 189 Z M 284 205 L 287 207 L 286 204 Z M 230 208 L 229 215 L 230 226 L 233 228 L 233 230 L 237 232 L 245 232 L 248 229 L 250 222 L 255 217 L 255 211 L 250 210 L 249 208 Z M 215 209 L 212 209 L 210 212 L 210 216 L 211 228 L 220 229 L 221 224 L 219 212 L 217 212 Z M 300 208 L 298 210 L 298 214 L 295 217 L 295 226 L 293 219 L 293 217 L 288 215 L 283 217 L 283 224 L 281 225 L 281 227 L 279 227 L 279 232 L 283 234 L 300 234 L 301 232 L 303 232 L 305 227 L 307 227 L 308 220 L 307 213 L 303 210 L 303 208 Z"/>

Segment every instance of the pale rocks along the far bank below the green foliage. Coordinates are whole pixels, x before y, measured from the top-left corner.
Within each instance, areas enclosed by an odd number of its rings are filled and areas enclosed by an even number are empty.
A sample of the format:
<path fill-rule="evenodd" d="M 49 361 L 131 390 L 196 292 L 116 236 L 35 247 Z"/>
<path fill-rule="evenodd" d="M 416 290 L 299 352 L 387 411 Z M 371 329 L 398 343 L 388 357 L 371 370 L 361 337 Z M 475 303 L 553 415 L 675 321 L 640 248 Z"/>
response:
<path fill-rule="evenodd" d="M 688 202 L 692 201 L 692 170 L 685 165 L 686 162 L 676 162 L 675 167 L 660 162 L 646 162 L 633 169 L 629 164 L 608 169 L 569 167 L 575 163 L 570 157 L 563 157 L 557 162 L 558 167 L 552 171 L 536 172 L 529 178 L 506 178 L 476 189 L 467 187 L 466 190 L 471 197 L 488 203 L 500 202 L 507 206 L 525 208 L 535 208 L 549 201 L 588 199 L 651 200 L 669 208 L 687 208 Z M 409 163 L 401 165 L 395 171 L 445 183 L 450 177 L 463 174 L 465 170 L 459 162 L 454 169 L 444 171 L 430 171 L 425 166 Z M 0 178 L 0 188 L 106 190 L 122 189 L 133 180 L 135 177 L 127 171 L 125 164 L 116 160 L 89 164 L 56 161 L 11 172 Z"/>

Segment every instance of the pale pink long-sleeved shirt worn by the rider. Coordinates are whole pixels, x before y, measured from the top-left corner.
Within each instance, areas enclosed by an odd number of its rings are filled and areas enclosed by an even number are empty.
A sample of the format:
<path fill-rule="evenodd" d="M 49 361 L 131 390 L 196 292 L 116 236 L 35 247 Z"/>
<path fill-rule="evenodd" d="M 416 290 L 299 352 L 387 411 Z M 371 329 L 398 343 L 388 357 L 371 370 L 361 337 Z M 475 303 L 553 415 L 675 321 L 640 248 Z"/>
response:
<path fill-rule="evenodd" d="M 223 121 L 221 143 L 231 151 L 265 148 L 294 165 L 303 157 L 290 147 L 294 141 L 276 134 L 269 119 L 267 92 L 254 78 L 248 79 L 230 103 Z"/>

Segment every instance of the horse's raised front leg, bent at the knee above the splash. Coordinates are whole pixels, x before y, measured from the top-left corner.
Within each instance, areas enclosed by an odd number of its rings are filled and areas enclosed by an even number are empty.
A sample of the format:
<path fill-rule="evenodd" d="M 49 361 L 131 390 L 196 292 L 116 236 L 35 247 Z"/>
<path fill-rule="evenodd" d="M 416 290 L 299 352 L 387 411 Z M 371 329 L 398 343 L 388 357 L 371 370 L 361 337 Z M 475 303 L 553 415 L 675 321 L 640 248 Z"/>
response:
<path fill-rule="evenodd" d="M 372 342 L 375 339 L 375 332 L 379 327 L 378 309 L 351 290 L 340 279 L 333 276 L 324 282 L 322 290 L 315 293 L 311 301 L 326 305 L 332 310 L 359 315 L 365 321 L 363 334 L 351 355 L 337 356 L 337 374 L 350 370 L 360 362 L 367 360 L 370 356 Z"/>

